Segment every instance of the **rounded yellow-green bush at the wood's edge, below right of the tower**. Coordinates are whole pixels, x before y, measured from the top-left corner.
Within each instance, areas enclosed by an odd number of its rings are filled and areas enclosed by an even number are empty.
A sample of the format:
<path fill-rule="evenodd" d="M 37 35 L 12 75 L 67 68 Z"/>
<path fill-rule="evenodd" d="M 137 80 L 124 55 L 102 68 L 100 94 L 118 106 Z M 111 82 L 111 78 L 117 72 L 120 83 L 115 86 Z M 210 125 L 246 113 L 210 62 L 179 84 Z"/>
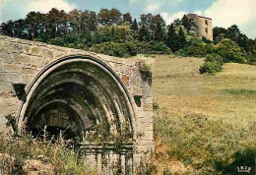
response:
<path fill-rule="evenodd" d="M 245 63 L 240 47 L 232 40 L 224 38 L 214 47 L 214 52 L 224 58 L 224 62 Z"/>

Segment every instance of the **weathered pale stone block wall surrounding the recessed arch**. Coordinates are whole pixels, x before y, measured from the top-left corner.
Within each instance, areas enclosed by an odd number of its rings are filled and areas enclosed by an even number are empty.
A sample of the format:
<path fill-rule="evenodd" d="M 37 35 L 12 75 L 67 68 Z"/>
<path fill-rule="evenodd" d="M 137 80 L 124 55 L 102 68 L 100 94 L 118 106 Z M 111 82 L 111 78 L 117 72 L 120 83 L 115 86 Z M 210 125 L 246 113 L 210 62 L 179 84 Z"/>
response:
<path fill-rule="evenodd" d="M 4 116 L 17 115 L 22 104 L 15 93 L 13 84 L 26 84 L 26 90 L 28 90 L 41 70 L 53 61 L 69 55 L 90 55 L 103 61 L 118 75 L 128 89 L 135 112 L 134 122 L 137 126 L 136 133 L 134 133 L 136 151 L 132 158 L 133 165 L 135 165 L 154 150 L 152 89 L 148 81 L 142 79 L 138 67 L 139 62 L 136 60 L 120 59 L 0 35 L 0 131 L 5 130 Z M 134 97 L 141 99 L 141 106 L 136 105 Z M 96 157 L 100 158 L 95 155 L 95 160 Z"/>

